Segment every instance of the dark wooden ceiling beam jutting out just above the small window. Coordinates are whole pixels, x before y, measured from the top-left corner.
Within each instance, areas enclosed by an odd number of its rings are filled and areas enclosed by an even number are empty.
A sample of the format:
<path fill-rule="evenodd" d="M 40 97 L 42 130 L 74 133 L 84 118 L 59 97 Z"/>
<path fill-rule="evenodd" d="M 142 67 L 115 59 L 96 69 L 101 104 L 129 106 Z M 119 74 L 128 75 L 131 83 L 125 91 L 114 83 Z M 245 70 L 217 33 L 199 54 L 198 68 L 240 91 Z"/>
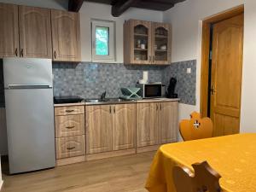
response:
<path fill-rule="evenodd" d="M 132 5 L 139 3 L 141 0 L 119 0 L 112 6 L 112 15 L 119 17 L 125 10 L 129 9 Z"/>

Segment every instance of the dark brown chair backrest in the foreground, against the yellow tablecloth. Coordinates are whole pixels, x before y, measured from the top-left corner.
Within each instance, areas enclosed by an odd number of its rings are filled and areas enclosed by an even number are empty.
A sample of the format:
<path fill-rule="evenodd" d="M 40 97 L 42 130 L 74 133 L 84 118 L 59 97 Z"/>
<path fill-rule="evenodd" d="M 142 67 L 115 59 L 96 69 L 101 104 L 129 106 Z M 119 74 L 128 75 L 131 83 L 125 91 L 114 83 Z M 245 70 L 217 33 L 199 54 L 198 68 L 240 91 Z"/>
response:
<path fill-rule="evenodd" d="M 188 168 L 174 166 L 172 170 L 173 182 L 177 192 L 221 192 L 220 175 L 204 161 L 192 165 L 195 173 Z"/>

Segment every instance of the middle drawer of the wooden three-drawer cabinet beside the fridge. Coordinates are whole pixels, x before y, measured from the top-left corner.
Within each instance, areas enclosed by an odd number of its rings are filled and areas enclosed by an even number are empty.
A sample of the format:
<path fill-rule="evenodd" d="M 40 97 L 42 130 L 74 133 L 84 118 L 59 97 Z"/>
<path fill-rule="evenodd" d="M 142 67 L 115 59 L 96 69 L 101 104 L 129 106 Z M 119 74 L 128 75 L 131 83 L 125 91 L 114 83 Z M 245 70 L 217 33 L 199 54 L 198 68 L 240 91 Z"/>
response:
<path fill-rule="evenodd" d="M 55 137 L 84 135 L 84 114 L 55 116 Z"/>

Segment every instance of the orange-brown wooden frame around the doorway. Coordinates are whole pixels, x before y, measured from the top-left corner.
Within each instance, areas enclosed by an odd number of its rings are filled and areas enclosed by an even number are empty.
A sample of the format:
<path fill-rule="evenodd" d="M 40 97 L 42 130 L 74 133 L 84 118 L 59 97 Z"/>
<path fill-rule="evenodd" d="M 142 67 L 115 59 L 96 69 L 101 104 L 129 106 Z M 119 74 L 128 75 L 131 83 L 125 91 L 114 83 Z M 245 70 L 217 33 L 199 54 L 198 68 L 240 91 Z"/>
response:
<path fill-rule="evenodd" d="M 200 88 L 200 112 L 202 117 L 207 117 L 208 111 L 208 79 L 209 79 L 209 55 L 210 55 L 210 33 L 211 25 L 221 20 L 230 19 L 244 13 L 244 5 L 227 9 L 217 15 L 212 15 L 202 20 L 201 41 L 201 88 Z"/>

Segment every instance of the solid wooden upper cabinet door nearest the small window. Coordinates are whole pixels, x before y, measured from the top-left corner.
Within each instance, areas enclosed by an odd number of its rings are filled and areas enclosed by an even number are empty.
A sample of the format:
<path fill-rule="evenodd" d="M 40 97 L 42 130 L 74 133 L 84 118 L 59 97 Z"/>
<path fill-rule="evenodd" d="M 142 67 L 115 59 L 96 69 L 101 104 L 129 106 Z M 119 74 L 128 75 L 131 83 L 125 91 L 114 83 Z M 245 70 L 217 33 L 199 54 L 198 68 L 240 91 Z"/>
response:
<path fill-rule="evenodd" d="M 51 10 L 53 60 L 81 61 L 79 14 Z"/>

